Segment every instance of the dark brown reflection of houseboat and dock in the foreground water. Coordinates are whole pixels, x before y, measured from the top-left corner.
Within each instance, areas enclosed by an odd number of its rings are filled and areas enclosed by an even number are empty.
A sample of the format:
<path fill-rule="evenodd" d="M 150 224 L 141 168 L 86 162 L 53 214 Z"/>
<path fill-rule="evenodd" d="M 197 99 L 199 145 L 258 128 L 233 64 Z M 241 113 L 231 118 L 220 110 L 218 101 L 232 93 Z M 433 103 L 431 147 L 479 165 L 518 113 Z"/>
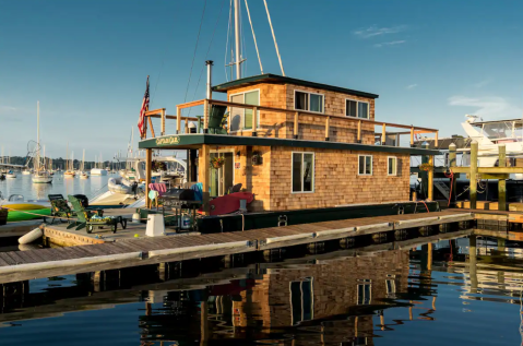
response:
<path fill-rule="evenodd" d="M 218 270 L 210 259 L 4 284 L 0 324 L 138 303 L 140 345 L 373 345 L 437 321 L 444 287 L 465 307 L 521 303 L 523 250 L 507 238 L 459 231 Z"/>

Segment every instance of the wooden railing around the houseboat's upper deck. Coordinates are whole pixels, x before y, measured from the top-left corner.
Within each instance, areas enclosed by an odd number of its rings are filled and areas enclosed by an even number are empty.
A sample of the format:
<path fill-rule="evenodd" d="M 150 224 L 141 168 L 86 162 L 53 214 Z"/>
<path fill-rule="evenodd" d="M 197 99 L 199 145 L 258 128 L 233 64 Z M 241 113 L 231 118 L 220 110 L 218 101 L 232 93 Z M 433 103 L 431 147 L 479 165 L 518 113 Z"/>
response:
<path fill-rule="evenodd" d="M 151 134 L 155 138 L 155 132 L 153 128 L 153 123 L 151 118 L 161 118 L 161 135 L 165 135 L 165 120 L 166 119 L 176 119 L 176 133 L 188 133 L 188 124 L 189 121 L 200 121 L 200 117 L 182 117 L 181 110 L 185 108 L 191 108 L 197 106 L 203 105 L 203 132 L 206 133 L 209 130 L 209 109 L 212 105 L 216 106 L 226 106 L 226 107 L 234 107 L 234 108 L 243 108 L 243 109 L 251 109 L 253 119 L 252 123 L 258 123 L 258 110 L 264 111 L 272 111 L 272 112 L 284 112 L 284 114 L 294 114 L 294 126 L 293 126 L 293 138 L 298 139 L 298 130 L 299 130 L 299 117 L 300 116 L 312 116 L 312 117 L 321 117 L 324 118 L 325 123 L 325 141 L 329 141 L 329 133 L 331 128 L 331 119 L 344 119 L 344 121 L 348 122 L 356 122 L 357 123 L 357 131 L 356 131 L 356 143 L 361 143 L 361 126 L 364 123 L 369 123 L 373 126 L 381 127 L 381 132 L 376 133 L 378 136 L 381 138 L 381 144 L 384 145 L 387 142 L 387 135 L 411 135 L 411 146 L 414 146 L 414 138 L 416 134 L 421 133 L 433 133 L 433 141 L 435 145 L 438 145 L 438 130 L 437 129 L 429 129 L 429 128 L 420 128 L 415 126 L 407 126 L 407 124 L 399 124 L 392 122 L 384 122 L 384 121 L 375 121 L 369 119 L 359 119 L 359 118 L 349 118 L 349 117 L 342 117 L 342 116 L 334 116 L 334 115 L 324 115 L 318 114 L 312 111 L 306 110 L 294 110 L 294 109 L 285 109 L 285 108 L 276 108 L 276 107 L 266 107 L 266 106 L 253 106 L 253 105 L 246 105 L 246 104 L 237 104 L 230 103 L 225 100 L 217 100 L 217 99 L 200 99 L 190 103 L 185 103 L 176 106 L 176 116 L 168 116 L 165 112 L 165 108 L 158 108 L 154 110 L 150 110 L 145 112 L 145 117 L 148 120 L 148 126 L 151 127 Z M 185 129 L 181 129 L 181 120 L 185 121 Z M 255 127 L 254 127 L 255 128 Z M 388 128 L 396 128 L 396 129 L 407 129 L 409 131 L 402 131 L 402 132 L 387 132 Z M 252 135 L 257 136 L 257 129 L 252 129 Z M 145 136 L 146 136 L 146 123 L 145 123 Z"/>

